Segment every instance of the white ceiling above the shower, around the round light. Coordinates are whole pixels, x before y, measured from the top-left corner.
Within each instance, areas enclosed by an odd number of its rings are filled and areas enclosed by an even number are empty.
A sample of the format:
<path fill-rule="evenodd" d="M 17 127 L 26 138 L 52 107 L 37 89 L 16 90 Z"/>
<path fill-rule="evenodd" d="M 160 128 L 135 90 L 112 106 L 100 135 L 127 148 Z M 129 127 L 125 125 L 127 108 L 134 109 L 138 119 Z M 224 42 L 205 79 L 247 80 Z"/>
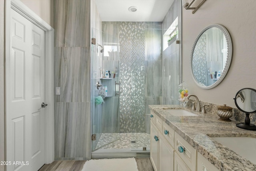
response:
<path fill-rule="evenodd" d="M 174 0 L 95 0 L 102 21 L 162 22 Z M 136 12 L 128 11 L 136 6 Z"/>

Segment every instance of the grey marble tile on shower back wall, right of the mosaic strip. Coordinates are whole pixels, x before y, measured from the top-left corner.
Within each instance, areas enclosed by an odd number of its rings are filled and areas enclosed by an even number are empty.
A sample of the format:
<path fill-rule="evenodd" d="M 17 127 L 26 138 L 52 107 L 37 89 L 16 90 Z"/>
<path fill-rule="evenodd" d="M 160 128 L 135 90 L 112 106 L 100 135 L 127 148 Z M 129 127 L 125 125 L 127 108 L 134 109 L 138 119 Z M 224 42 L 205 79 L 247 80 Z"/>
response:
<path fill-rule="evenodd" d="M 148 105 L 161 104 L 162 97 L 162 25 L 145 23 L 145 132 L 150 133 Z"/>

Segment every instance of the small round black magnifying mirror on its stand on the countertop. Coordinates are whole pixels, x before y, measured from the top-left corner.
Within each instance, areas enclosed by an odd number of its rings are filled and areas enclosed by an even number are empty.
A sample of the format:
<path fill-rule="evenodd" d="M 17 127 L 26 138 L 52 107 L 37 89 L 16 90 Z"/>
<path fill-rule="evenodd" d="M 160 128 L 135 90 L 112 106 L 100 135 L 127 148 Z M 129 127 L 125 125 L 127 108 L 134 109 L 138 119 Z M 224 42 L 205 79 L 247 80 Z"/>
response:
<path fill-rule="evenodd" d="M 246 114 L 244 123 L 237 123 L 236 126 L 242 129 L 256 131 L 256 126 L 250 123 L 249 114 L 256 113 L 256 90 L 252 88 L 240 89 L 234 98 L 236 107 Z"/>

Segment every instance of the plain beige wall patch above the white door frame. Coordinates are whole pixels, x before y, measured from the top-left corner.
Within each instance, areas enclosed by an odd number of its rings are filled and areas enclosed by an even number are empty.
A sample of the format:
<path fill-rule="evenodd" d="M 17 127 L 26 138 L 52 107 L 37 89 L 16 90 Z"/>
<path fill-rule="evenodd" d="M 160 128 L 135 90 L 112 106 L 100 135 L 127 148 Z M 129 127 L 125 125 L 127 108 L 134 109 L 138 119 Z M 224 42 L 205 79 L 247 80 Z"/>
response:
<path fill-rule="evenodd" d="M 20 0 L 53 28 L 54 0 Z"/>

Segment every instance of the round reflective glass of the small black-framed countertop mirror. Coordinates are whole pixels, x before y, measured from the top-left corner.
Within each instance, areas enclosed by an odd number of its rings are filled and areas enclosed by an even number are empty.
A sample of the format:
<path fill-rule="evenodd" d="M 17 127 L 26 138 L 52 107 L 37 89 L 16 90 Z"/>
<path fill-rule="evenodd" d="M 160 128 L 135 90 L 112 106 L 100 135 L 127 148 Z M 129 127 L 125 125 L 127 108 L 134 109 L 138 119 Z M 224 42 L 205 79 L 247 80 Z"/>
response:
<path fill-rule="evenodd" d="M 236 93 L 235 103 L 245 113 L 256 112 L 256 90 L 245 88 Z"/>

